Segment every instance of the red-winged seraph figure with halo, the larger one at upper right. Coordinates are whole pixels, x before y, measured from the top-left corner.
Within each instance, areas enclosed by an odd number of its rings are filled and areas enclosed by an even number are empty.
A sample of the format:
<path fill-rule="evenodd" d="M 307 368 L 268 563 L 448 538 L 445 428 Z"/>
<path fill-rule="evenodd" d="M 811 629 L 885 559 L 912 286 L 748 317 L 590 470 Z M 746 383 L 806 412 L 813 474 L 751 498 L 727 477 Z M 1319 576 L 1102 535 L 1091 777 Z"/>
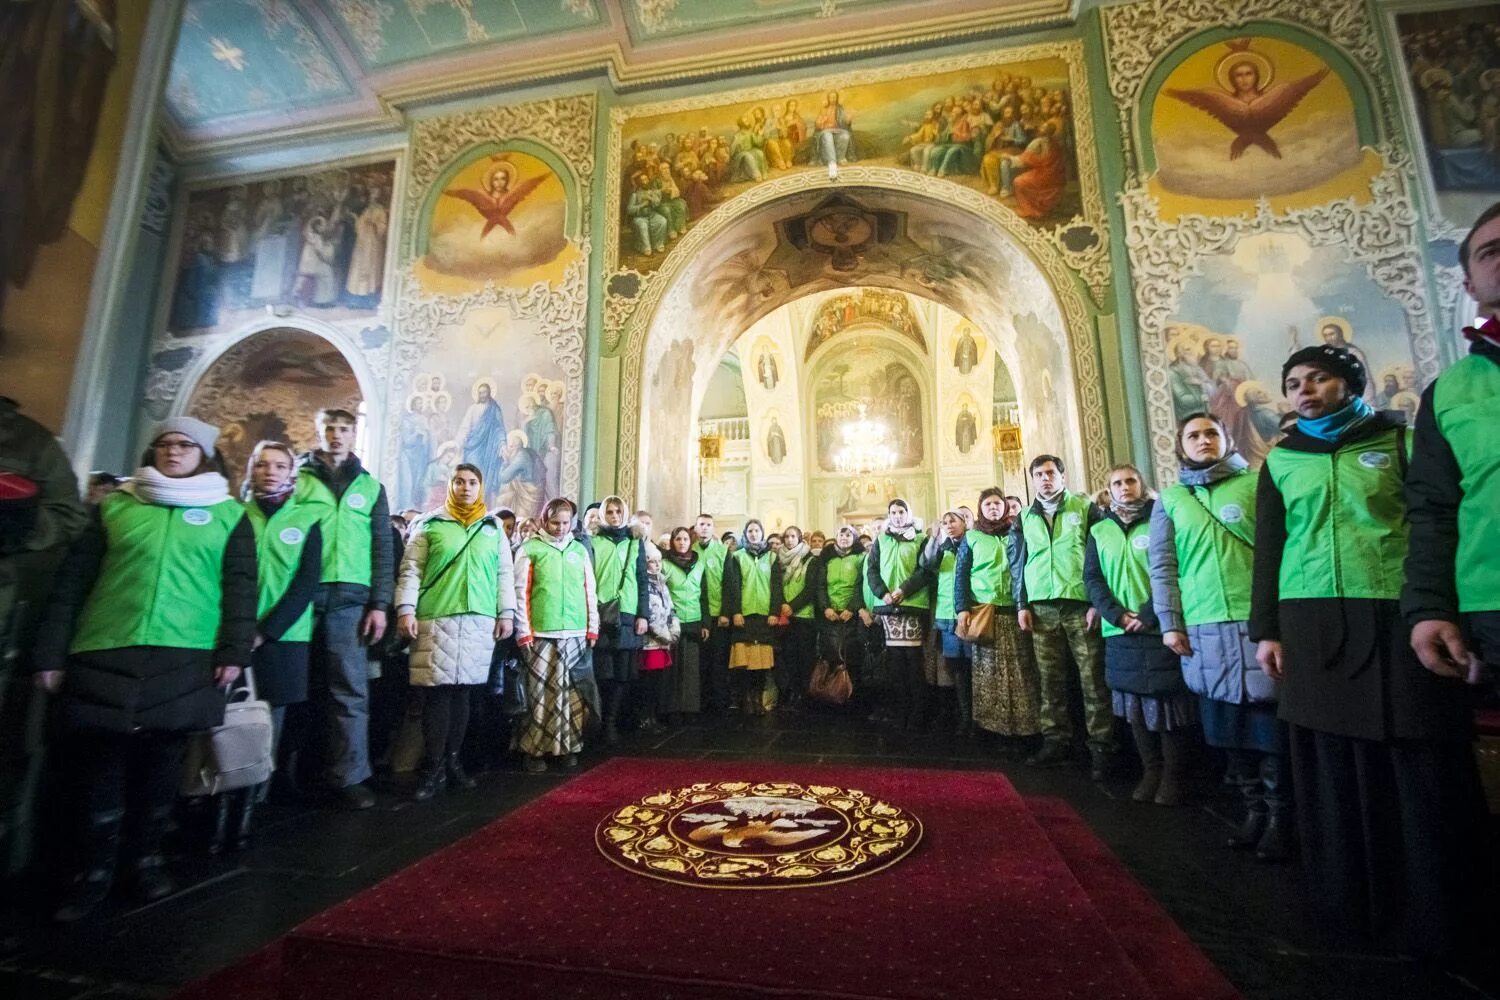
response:
<path fill-rule="evenodd" d="M 1263 54 L 1251 51 L 1250 39 L 1226 42 L 1228 55 L 1214 67 L 1220 90 L 1202 87 L 1194 90 L 1167 88 L 1168 97 L 1192 105 L 1230 130 L 1234 141 L 1228 145 L 1228 157 L 1238 160 L 1251 145 L 1281 159 L 1281 148 L 1270 138 L 1270 129 L 1292 114 L 1298 102 L 1328 76 L 1328 66 L 1300 79 L 1272 84 L 1275 66 Z"/>

